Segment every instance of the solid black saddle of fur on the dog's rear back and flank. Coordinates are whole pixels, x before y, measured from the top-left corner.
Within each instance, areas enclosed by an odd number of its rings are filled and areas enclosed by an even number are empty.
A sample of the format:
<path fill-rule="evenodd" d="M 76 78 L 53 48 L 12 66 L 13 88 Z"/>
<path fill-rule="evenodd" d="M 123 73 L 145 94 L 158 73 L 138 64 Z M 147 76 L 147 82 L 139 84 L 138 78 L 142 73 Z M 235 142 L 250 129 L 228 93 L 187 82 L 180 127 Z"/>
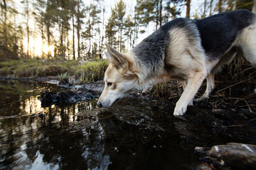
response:
<path fill-rule="evenodd" d="M 249 10 L 235 10 L 195 20 L 205 53 L 219 58 L 233 45 L 244 28 L 256 21 L 256 15 Z"/>

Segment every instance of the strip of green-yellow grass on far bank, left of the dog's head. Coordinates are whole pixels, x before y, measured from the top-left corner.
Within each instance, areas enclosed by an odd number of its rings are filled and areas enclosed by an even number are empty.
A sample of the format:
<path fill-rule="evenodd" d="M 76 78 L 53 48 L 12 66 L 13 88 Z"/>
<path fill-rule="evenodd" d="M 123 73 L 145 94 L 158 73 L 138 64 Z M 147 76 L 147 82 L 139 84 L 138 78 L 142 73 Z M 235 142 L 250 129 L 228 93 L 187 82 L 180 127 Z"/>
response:
<path fill-rule="evenodd" d="M 0 76 L 12 78 L 58 76 L 67 82 L 68 77 L 75 77 L 77 83 L 102 80 L 108 67 L 107 60 L 88 61 L 78 64 L 77 60 L 26 59 L 0 62 Z"/>

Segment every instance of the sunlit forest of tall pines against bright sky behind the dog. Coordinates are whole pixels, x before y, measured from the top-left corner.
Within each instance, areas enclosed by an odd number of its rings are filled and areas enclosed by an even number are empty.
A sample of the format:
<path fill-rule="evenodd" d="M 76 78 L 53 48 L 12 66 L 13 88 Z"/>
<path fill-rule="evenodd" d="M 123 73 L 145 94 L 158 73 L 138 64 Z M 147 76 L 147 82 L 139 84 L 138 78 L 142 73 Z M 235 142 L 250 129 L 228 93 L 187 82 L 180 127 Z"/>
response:
<path fill-rule="evenodd" d="M 194 4 L 193 4 L 194 3 Z M 0 60 L 102 59 L 104 43 L 126 52 L 177 17 L 252 10 L 252 0 L 2 0 Z"/>

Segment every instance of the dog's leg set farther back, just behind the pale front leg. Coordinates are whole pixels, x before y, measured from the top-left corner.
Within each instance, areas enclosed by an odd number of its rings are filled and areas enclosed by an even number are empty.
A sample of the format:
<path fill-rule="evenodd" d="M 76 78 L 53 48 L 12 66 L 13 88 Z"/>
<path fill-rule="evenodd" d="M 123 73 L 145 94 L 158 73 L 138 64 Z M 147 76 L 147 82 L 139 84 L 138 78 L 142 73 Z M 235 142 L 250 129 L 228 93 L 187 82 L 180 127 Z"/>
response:
<path fill-rule="evenodd" d="M 205 101 L 205 99 L 209 99 L 209 95 L 211 94 L 212 90 L 214 89 L 215 85 L 214 85 L 214 74 L 210 73 L 207 75 L 206 77 L 206 90 L 203 94 L 203 96 L 201 96 L 199 99 L 195 99 L 196 102 L 198 101 Z"/>

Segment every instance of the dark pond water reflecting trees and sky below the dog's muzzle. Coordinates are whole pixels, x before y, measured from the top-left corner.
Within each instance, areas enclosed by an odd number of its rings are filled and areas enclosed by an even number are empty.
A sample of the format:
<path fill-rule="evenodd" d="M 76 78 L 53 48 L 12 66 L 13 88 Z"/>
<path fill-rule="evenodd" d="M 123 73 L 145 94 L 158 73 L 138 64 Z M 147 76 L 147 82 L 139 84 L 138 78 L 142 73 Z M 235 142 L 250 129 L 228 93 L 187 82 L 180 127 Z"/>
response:
<path fill-rule="evenodd" d="M 96 100 L 41 108 L 44 89 L 65 90 L 0 82 L 0 169 L 191 169 L 195 146 L 243 141 L 136 97 L 109 109 Z"/>

